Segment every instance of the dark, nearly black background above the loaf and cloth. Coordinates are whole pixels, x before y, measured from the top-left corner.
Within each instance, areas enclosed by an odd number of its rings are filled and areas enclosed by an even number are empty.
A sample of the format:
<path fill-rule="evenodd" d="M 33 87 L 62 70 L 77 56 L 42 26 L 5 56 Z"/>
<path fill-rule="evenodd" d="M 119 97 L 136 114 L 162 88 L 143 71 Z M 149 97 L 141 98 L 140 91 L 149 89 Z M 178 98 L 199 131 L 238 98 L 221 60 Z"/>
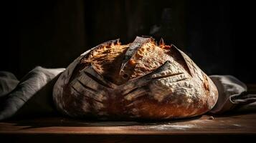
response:
<path fill-rule="evenodd" d="M 251 2 L 253 3 L 253 2 Z M 248 1 L 1 2 L 0 70 L 21 78 L 35 66 L 67 67 L 110 39 L 163 37 L 207 74 L 255 78 L 255 8 Z"/>

